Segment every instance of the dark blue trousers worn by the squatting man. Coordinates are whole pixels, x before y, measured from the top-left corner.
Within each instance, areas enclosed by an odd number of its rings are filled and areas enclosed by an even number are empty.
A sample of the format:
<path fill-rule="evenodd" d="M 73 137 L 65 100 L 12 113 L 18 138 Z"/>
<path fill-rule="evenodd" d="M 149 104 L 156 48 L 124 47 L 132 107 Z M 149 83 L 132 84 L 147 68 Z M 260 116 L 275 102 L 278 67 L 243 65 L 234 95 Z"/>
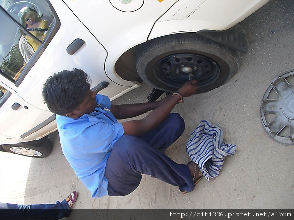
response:
<path fill-rule="evenodd" d="M 177 164 L 163 154 L 182 135 L 184 129 L 183 118 L 173 113 L 152 131 L 140 137 L 120 137 L 111 151 L 105 169 L 108 195 L 130 194 L 139 186 L 142 174 L 179 186 L 182 190 L 192 191 L 194 183 L 187 165 Z"/>

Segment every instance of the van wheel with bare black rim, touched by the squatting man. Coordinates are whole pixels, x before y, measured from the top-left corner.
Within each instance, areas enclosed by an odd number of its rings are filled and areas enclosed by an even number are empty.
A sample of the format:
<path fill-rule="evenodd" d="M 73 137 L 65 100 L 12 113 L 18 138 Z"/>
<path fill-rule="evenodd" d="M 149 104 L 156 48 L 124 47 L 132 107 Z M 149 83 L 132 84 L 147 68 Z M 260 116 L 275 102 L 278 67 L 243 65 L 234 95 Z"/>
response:
<path fill-rule="evenodd" d="M 218 88 L 240 66 L 240 52 L 196 33 L 150 40 L 137 52 L 139 76 L 150 86 L 168 92 L 196 79 L 197 92 Z"/>

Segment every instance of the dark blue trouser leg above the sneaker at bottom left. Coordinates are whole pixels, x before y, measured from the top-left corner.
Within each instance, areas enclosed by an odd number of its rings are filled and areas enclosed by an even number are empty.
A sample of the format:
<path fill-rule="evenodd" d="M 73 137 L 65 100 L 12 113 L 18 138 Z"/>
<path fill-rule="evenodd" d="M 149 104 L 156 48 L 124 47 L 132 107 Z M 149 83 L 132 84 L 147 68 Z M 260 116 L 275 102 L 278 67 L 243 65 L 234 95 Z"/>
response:
<path fill-rule="evenodd" d="M 68 217 L 71 209 L 67 201 L 56 204 L 17 205 L 0 203 L 1 220 L 61 219 Z"/>

